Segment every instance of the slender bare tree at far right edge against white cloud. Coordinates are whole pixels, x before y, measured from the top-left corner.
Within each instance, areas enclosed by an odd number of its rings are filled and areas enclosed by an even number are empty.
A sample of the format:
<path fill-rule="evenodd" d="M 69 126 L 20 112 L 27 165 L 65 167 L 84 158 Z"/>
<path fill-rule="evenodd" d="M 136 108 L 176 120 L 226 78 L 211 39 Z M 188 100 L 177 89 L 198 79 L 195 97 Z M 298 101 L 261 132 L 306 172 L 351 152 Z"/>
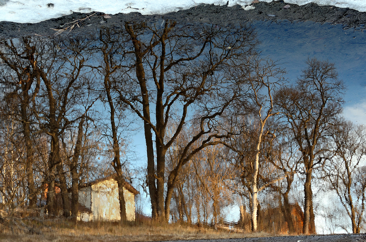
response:
<path fill-rule="evenodd" d="M 341 121 L 330 133 L 335 156 L 328 160 L 323 170 L 351 219 L 352 233 L 359 233 L 366 202 L 366 179 L 362 175 L 365 166 L 360 164 L 366 156 L 366 129 Z"/>

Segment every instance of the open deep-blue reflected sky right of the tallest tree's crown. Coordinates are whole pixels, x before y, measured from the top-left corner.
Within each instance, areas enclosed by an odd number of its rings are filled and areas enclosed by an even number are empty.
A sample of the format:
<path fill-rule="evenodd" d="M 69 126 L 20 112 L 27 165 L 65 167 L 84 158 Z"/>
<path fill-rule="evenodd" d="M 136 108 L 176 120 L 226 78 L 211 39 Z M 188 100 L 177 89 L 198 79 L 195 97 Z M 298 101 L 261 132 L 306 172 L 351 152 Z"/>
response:
<path fill-rule="evenodd" d="M 253 26 L 262 55 L 279 60 L 291 81 L 300 76 L 308 57 L 334 62 L 348 88 L 344 116 L 366 124 L 366 33 L 311 21 L 256 21 Z"/>

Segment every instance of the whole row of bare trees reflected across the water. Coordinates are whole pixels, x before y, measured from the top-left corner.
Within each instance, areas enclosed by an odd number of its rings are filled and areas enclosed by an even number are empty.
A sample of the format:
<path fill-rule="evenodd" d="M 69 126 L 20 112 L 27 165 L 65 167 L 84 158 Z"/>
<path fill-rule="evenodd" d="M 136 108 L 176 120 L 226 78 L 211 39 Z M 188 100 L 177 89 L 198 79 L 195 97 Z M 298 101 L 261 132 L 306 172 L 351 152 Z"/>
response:
<path fill-rule="evenodd" d="M 250 26 L 171 21 L 1 41 L 1 202 L 34 208 L 47 187 L 47 211 L 56 214 L 57 185 L 63 216 L 76 219 L 79 185 L 115 172 L 124 223 L 122 189 L 134 169 L 128 136 L 143 129 L 140 185 L 154 220 L 216 227 L 240 198 L 241 221 L 249 208 L 252 231 L 272 202 L 294 233 L 299 202 L 302 232 L 315 233 L 317 177 L 360 232 L 366 130 L 341 118 L 345 88 L 334 64 L 309 59 L 290 85 L 257 45 Z"/>

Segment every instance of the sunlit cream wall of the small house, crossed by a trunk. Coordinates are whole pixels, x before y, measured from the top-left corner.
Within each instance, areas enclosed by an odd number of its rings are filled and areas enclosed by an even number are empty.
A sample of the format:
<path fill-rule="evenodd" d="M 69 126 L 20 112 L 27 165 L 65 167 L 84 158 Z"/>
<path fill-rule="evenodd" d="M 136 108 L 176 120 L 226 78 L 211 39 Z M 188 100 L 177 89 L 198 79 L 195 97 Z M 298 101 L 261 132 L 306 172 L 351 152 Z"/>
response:
<path fill-rule="evenodd" d="M 135 220 L 135 197 L 123 189 L 126 201 L 127 220 Z M 91 186 L 91 211 L 93 220 L 120 220 L 118 184 L 114 179 L 98 182 Z"/>

